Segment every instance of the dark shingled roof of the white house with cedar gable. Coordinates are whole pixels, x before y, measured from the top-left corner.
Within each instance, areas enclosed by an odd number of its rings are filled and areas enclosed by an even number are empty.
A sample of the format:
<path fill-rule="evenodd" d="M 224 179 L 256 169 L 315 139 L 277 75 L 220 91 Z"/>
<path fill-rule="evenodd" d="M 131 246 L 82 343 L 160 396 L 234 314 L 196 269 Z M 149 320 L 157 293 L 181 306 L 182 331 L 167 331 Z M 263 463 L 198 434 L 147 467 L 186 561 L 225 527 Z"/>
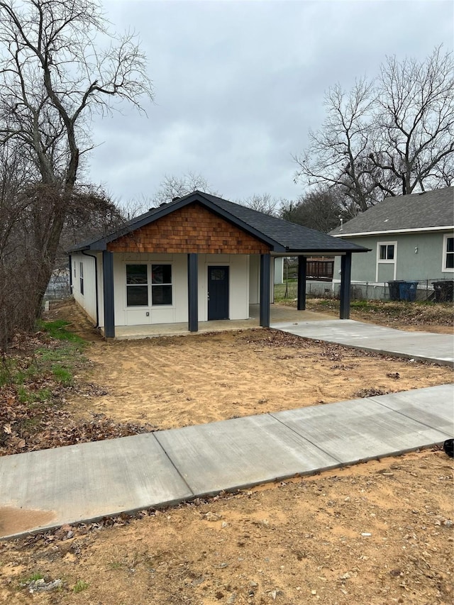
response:
<path fill-rule="evenodd" d="M 205 206 L 206 209 L 233 223 L 243 229 L 243 231 L 269 244 L 272 252 L 323 252 L 325 254 L 367 252 L 367 248 L 363 248 L 362 246 L 344 242 L 326 233 L 295 225 L 294 223 L 283 221 L 281 218 L 268 216 L 246 206 L 234 204 L 232 201 L 199 191 L 180 197 L 169 204 L 163 204 L 159 208 L 151 209 L 149 212 L 133 218 L 132 221 L 126 223 L 121 229 L 105 238 L 79 243 L 71 248 L 70 252 L 77 252 L 78 250 L 106 250 L 106 245 L 109 242 L 195 202 Z"/>

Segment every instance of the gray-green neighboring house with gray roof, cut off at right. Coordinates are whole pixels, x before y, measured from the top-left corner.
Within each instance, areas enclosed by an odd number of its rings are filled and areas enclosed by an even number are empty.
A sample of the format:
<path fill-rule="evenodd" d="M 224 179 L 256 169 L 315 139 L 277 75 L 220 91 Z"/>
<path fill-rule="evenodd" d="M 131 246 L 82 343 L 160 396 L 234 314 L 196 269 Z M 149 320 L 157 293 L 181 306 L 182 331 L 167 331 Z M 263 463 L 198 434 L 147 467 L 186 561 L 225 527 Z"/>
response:
<path fill-rule="evenodd" d="M 353 258 L 352 284 L 452 280 L 454 187 L 388 197 L 330 235 L 371 249 Z M 336 260 L 334 277 L 340 269 Z"/>

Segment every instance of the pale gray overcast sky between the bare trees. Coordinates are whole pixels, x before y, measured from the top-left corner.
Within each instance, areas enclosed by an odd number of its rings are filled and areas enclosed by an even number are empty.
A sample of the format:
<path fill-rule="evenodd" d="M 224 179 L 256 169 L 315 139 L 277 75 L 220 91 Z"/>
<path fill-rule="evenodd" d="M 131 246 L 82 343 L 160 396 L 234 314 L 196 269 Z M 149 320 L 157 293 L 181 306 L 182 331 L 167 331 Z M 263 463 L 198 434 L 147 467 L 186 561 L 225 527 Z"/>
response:
<path fill-rule="evenodd" d="M 121 203 L 165 174 L 204 175 L 227 199 L 295 199 L 292 154 L 323 121 L 323 94 L 374 76 L 386 55 L 453 48 L 452 0 L 104 0 L 148 55 L 155 104 L 97 119 L 92 182 Z"/>

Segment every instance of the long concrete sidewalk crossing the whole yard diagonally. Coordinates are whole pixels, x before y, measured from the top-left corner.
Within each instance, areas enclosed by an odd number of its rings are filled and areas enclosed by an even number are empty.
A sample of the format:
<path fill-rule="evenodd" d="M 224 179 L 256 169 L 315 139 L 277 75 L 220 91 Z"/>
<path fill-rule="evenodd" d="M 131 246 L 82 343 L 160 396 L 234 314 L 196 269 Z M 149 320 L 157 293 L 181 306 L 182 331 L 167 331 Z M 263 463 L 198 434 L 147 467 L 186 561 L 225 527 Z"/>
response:
<path fill-rule="evenodd" d="M 41 531 L 442 443 L 453 385 L 0 458 L 2 508 Z M 7 532 L 3 532 L 6 537 Z"/>

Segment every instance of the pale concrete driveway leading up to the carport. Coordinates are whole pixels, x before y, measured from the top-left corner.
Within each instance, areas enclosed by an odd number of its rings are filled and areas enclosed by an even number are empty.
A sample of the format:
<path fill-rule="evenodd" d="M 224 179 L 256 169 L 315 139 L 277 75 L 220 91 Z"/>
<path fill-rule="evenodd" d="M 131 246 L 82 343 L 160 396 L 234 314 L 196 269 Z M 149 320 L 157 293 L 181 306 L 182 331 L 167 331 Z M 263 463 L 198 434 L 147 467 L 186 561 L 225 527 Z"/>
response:
<path fill-rule="evenodd" d="M 376 353 L 454 365 L 454 336 L 429 332 L 406 332 L 353 319 L 275 322 L 272 328 L 314 340 L 326 340 Z"/>

